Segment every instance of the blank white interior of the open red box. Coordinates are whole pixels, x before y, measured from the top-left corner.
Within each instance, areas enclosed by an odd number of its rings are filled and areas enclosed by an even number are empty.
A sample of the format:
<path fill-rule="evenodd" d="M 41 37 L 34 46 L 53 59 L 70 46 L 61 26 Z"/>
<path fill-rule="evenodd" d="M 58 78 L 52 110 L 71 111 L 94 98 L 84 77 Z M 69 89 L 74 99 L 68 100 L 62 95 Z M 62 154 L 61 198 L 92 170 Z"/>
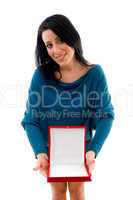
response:
<path fill-rule="evenodd" d="M 50 128 L 50 176 L 87 176 L 84 128 Z"/>

